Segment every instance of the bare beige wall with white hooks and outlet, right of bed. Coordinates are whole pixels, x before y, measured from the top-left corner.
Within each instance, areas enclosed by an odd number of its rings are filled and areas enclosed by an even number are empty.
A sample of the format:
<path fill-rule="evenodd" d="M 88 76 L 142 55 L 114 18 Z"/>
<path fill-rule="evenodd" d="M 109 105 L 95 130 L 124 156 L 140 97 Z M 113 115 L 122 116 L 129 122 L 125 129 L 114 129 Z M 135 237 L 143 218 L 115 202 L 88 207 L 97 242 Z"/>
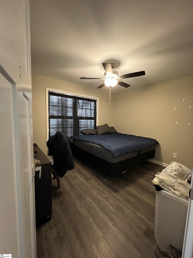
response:
<path fill-rule="evenodd" d="M 137 89 L 130 87 L 114 97 L 113 124 L 119 132 L 156 139 L 160 145 L 155 160 L 166 164 L 177 161 L 192 169 L 193 109 L 190 106 L 193 108 L 193 76 Z M 173 152 L 177 158 L 172 158 Z"/>

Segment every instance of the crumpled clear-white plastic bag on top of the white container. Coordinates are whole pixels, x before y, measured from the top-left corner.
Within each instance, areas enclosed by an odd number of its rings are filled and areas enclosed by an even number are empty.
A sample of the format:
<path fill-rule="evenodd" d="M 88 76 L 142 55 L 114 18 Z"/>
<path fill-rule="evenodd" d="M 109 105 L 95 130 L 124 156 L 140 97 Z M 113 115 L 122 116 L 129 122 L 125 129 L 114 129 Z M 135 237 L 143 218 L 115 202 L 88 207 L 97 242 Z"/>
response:
<path fill-rule="evenodd" d="M 180 197 L 189 198 L 190 184 L 187 180 L 191 175 L 191 169 L 172 161 L 161 172 L 157 172 L 152 183 Z"/>

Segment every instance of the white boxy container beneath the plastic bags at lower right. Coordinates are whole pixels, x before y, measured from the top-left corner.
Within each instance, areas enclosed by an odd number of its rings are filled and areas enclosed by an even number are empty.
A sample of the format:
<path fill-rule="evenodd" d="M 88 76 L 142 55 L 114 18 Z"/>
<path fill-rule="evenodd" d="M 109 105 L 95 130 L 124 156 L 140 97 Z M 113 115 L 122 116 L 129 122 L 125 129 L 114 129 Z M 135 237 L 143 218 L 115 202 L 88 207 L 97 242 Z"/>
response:
<path fill-rule="evenodd" d="M 188 199 L 167 191 L 156 191 L 155 240 L 161 249 L 169 244 L 182 251 Z"/>

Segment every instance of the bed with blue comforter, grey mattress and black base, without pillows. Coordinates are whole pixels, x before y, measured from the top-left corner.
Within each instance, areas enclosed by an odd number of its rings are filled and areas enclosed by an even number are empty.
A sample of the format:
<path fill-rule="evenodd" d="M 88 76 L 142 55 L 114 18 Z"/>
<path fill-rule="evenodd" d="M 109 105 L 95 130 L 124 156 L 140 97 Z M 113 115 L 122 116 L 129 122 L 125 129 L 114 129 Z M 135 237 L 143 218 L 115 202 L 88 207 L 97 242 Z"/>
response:
<path fill-rule="evenodd" d="M 76 157 L 83 158 L 106 174 L 114 176 L 154 158 L 157 140 L 122 134 L 85 134 L 73 136 L 72 150 Z"/>

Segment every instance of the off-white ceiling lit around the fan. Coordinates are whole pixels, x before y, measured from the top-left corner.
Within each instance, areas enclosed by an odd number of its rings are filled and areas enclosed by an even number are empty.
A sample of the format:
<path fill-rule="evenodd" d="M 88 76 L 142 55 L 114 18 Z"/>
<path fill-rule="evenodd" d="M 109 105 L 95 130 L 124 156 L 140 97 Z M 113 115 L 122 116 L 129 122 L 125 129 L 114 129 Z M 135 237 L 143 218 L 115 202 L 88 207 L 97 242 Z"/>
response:
<path fill-rule="evenodd" d="M 193 74 L 192 0 L 30 0 L 30 16 L 34 73 L 93 88 L 79 77 L 112 60 L 119 75 L 145 70 L 122 79 L 132 87 Z"/>

